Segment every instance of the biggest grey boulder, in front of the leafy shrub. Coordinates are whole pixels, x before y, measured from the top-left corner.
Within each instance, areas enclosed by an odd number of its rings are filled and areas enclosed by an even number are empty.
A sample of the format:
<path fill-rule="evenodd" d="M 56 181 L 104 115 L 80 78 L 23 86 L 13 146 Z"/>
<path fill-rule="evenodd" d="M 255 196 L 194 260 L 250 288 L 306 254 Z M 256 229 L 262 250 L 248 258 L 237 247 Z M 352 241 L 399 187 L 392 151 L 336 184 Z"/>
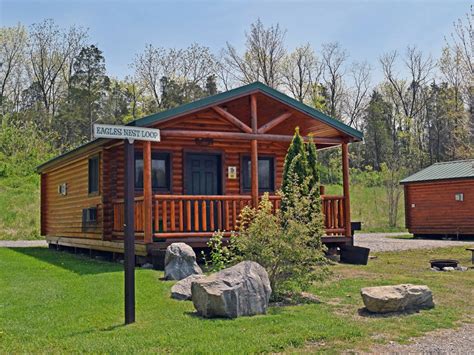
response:
<path fill-rule="evenodd" d="M 265 269 L 243 261 L 192 282 L 192 300 L 199 315 L 207 318 L 265 314 L 272 293 Z"/>

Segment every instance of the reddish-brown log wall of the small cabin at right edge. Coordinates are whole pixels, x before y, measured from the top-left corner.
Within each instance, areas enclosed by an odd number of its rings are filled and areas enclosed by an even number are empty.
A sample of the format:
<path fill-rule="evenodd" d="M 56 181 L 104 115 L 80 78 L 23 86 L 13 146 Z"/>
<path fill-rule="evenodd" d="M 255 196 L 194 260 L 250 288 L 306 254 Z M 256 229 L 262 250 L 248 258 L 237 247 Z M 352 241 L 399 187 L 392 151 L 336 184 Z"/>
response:
<path fill-rule="evenodd" d="M 464 201 L 456 201 L 456 193 L 463 193 Z M 474 180 L 407 184 L 405 199 L 411 233 L 474 234 Z"/>

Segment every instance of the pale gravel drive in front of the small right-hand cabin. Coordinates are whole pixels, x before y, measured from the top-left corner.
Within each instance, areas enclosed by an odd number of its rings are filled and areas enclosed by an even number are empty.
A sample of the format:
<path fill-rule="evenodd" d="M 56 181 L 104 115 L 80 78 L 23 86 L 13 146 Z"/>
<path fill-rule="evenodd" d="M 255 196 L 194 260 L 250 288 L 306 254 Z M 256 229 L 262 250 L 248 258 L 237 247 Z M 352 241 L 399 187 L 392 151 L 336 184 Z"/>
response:
<path fill-rule="evenodd" d="M 354 245 L 370 248 L 371 251 L 395 251 L 408 249 L 432 249 L 449 246 L 474 246 L 474 240 L 457 241 L 442 239 L 395 239 L 390 236 L 406 233 L 361 233 L 354 237 Z"/>

